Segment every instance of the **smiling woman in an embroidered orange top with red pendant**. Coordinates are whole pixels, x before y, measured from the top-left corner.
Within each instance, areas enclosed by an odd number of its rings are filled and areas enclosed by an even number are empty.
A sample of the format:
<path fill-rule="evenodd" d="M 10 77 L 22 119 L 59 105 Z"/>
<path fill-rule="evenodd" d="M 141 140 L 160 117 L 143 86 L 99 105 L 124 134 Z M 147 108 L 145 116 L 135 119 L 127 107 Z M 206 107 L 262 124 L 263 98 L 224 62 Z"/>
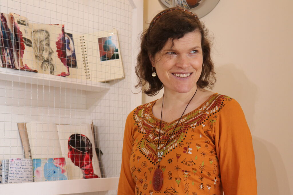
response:
<path fill-rule="evenodd" d="M 138 86 L 163 97 L 127 118 L 118 194 L 257 194 L 251 134 L 215 82 L 205 26 L 181 8 L 142 34 Z"/>

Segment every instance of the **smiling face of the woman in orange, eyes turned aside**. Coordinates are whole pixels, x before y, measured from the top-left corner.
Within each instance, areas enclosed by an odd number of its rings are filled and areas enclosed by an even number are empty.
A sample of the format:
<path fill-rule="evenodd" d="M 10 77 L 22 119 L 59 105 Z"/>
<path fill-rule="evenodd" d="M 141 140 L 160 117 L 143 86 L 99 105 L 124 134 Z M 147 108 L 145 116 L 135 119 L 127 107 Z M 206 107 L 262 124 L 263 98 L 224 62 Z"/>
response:
<path fill-rule="evenodd" d="M 165 91 L 195 91 L 202 71 L 201 34 L 195 30 L 174 39 L 173 43 L 169 39 L 161 51 L 150 56 L 151 63 Z"/>

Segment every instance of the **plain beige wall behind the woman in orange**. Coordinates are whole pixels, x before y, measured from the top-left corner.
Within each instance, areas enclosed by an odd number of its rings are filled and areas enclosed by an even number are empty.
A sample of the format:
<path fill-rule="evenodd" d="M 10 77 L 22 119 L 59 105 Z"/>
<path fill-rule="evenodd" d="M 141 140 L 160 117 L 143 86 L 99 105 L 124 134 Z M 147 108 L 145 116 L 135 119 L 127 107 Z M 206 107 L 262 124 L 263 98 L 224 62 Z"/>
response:
<path fill-rule="evenodd" d="M 293 194 L 292 7 L 291 0 L 221 0 L 201 19 L 214 36 L 213 91 L 236 99 L 251 129 L 260 195 Z M 144 0 L 144 20 L 162 9 Z M 161 96 L 144 94 L 142 103 Z"/>

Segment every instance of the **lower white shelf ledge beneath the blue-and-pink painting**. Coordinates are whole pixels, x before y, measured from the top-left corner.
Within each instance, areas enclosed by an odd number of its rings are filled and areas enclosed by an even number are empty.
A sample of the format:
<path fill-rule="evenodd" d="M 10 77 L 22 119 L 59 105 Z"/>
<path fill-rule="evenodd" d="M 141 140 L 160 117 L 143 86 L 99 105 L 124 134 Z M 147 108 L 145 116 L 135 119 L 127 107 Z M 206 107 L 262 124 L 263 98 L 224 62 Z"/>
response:
<path fill-rule="evenodd" d="M 53 195 L 117 190 L 119 177 L 0 184 L 1 194 Z M 40 191 L 40 189 L 42 189 Z"/>

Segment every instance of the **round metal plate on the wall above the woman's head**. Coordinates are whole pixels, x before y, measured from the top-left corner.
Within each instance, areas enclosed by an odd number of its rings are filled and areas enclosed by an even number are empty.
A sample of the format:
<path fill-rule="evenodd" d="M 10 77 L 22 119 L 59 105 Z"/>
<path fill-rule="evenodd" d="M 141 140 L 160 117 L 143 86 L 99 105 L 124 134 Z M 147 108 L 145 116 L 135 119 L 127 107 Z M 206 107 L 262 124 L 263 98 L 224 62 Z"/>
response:
<path fill-rule="evenodd" d="M 199 18 L 204 17 L 219 3 L 220 0 L 159 0 L 166 7 L 182 7 L 195 13 Z"/>

